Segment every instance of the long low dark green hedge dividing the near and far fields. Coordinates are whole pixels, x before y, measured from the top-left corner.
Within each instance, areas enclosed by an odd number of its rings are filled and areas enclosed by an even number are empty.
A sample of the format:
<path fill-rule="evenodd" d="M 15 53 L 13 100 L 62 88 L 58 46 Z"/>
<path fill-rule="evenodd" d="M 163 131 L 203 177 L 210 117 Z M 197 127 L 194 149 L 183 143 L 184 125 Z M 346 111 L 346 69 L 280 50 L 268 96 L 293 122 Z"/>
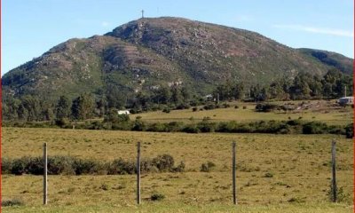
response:
<path fill-rule="evenodd" d="M 38 127 L 24 124 L 23 127 Z M 62 128 L 72 129 L 73 124 L 68 123 Z M 202 122 L 186 124 L 184 122 L 143 122 L 135 121 L 105 121 L 82 122 L 75 124 L 75 129 L 85 130 L 134 130 L 156 132 L 230 132 L 230 133 L 271 133 L 271 134 L 339 134 L 353 138 L 353 123 L 342 125 L 327 125 L 324 122 L 305 122 L 302 120 L 288 121 L 259 121 L 259 122 Z"/>

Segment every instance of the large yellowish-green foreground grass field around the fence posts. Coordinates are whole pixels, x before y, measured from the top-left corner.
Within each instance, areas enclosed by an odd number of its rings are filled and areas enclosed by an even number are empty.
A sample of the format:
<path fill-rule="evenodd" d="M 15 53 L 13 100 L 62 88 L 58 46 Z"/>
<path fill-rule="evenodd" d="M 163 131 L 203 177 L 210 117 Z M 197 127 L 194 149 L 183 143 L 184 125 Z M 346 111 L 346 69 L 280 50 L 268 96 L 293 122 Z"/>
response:
<path fill-rule="evenodd" d="M 105 130 L 4 128 L 3 157 L 73 155 L 111 161 L 171 154 L 184 161 L 184 173 L 142 177 L 143 205 L 135 205 L 135 176 L 50 176 L 49 206 L 41 207 L 42 177 L 3 176 L 3 200 L 18 198 L 24 207 L 4 212 L 234 212 L 231 147 L 237 142 L 238 212 L 352 212 L 353 146 L 335 135 L 186 134 Z M 338 185 L 343 201 L 332 204 L 330 142 L 337 141 Z M 214 162 L 210 172 L 201 163 Z M 271 174 L 271 175 L 270 175 Z M 153 193 L 163 201 L 150 201 Z"/>

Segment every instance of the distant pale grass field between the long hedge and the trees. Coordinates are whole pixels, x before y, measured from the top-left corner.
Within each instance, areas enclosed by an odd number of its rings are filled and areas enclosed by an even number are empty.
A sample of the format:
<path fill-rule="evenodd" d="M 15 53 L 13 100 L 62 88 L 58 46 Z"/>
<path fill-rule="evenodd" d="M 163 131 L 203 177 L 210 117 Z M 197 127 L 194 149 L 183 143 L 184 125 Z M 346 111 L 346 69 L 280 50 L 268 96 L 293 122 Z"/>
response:
<path fill-rule="evenodd" d="M 294 104 L 299 104 L 302 101 L 293 101 Z M 218 108 L 214 110 L 203 110 L 193 112 L 192 109 L 185 110 L 173 110 L 169 114 L 163 113 L 162 111 L 149 112 L 144 114 L 132 114 L 131 119 L 135 119 L 138 116 L 142 117 L 142 120 L 146 122 L 199 122 L 204 117 L 209 117 L 211 121 L 222 122 L 222 121 L 237 121 L 237 122 L 255 122 L 260 120 L 288 120 L 299 119 L 302 117 L 304 121 L 317 121 L 326 122 L 327 124 L 348 124 L 352 122 L 353 111 L 350 106 L 346 108 L 336 108 L 331 105 L 335 100 L 324 101 L 324 100 L 312 100 L 309 101 L 308 109 L 301 109 L 295 111 L 276 111 L 271 113 L 257 113 L 255 111 L 255 103 L 241 103 L 241 102 L 231 102 L 228 103 L 231 107 L 228 108 Z M 288 103 L 288 102 L 285 102 Z M 320 104 L 318 104 L 320 103 Z M 275 102 L 275 104 L 284 104 L 284 102 Z M 239 106 L 235 109 L 234 106 Z M 246 109 L 243 109 L 246 106 Z M 201 108 L 201 106 L 199 107 Z"/>

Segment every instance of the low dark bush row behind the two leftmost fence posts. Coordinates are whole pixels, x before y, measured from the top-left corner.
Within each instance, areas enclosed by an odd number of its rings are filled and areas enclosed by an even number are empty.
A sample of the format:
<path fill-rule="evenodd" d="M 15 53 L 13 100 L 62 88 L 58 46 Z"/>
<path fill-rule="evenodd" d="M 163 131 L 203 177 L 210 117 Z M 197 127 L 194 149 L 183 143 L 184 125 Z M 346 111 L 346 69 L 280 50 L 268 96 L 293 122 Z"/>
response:
<path fill-rule="evenodd" d="M 49 156 L 49 175 L 124 175 L 137 172 L 136 162 L 116 159 L 113 162 L 99 162 L 97 160 L 83 160 L 72 156 Z M 141 161 L 141 172 L 183 172 L 185 163 L 174 166 L 174 158 L 170 154 L 158 155 L 153 159 Z M 42 157 L 21 157 L 18 159 L 2 159 L 3 174 L 43 174 Z"/>

